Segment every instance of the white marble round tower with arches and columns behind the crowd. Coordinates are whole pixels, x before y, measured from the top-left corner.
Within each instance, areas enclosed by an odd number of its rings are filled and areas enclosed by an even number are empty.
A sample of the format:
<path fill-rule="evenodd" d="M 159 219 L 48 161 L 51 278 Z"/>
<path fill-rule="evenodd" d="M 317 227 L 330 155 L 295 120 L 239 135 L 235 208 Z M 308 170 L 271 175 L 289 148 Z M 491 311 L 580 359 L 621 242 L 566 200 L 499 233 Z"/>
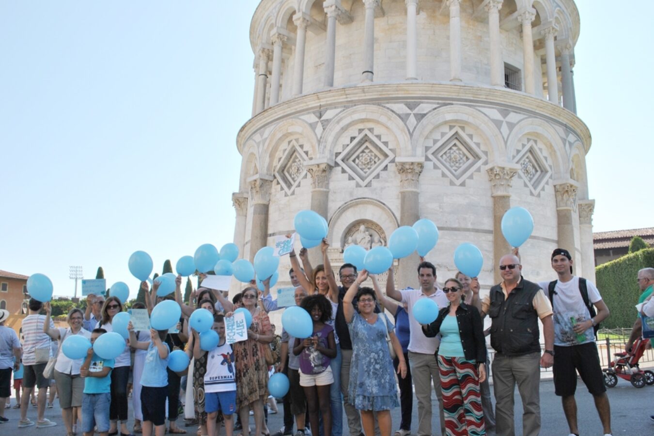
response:
<path fill-rule="evenodd" d="M 313 209 L 328 220 L 337 267 L 348 244 L 386 244 L 430 218 L 440 239 L 426 258 L 439 281 L 469 241 L 490 285 L 510 250 L 502 215 L 522 206 L 535 222 L 525 276 L 553 277 L 560 246 L 594 280 L 578 37 L 572 0 L 262 0 L 250 24 L 252 118 L 237 137 L 235 243 L 252 259 Z M 417 286 L 416 265 L 399 262 L 398 284 Z"/>

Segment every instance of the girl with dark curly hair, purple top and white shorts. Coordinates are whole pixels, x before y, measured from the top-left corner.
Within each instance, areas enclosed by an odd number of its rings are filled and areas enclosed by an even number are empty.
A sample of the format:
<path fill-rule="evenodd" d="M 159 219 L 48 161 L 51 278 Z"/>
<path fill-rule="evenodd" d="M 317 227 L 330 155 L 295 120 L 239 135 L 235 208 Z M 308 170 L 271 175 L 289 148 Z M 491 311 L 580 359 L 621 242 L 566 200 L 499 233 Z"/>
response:
<path fill-rule="evenodd" d="M 332 318 L 332 303 L 321 294 L 302 299 L 300 307 L 311 314 L 313 335 L 307 339 L 296 339 L 293 354 L 300 355 L 300 386 L 304 388 L 309 406 L 309 422 L 314 433 L 318 433 L 318 409 L 322 414 L 322 434 L 332 434 L 332 411 L 330 388 L 334 374 L 330 360 L 336 358 L 334 328 L 327 324 Z"/>

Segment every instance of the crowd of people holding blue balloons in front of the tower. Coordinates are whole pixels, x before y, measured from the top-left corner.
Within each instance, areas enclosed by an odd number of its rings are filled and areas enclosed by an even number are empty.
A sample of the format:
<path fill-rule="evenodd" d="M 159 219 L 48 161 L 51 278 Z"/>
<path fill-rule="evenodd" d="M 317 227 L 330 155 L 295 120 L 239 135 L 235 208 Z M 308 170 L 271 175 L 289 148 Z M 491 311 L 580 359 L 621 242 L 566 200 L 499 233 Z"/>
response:
<path fill-rule="evenodd" d="M 90 295 L 85 312 L 69 312 L 66 328 L 54 326 L 49 303 L 32 299 L 22 322 L 22 343 L 12 329 L 3 327 L 8 314 L 0 312 L 0 422 L 7 422 L 2 413 L 10 397 L 12 371 L 16 388 L 15 371 L 24 368 L 22 386 L 18 384 L 22 391 L 19 428 L 56 425 L 44 418 L 46 392 L 54 378 L 67 436 L 78 429 L 85 436 L 186 433 L 177 426 L 182 402 L 184 417 L 197 422 L 200 436 L 216 436 L 222 427 L 228 436 L 238 430 L 249 436 L 250 414 L 254 434 L 270 436 L 267 404 L 276 406 L 274 399 L 269 401 L 267 382 L 277 372 L 288 377 L 290 388 L 283 397 L 284 426 L 273 436 L 311 432 L 341 436 L 346 431 L 355 436 L 390 436 L 394 428 L 394 436 L 412 431 L 432 435 L 432 386 L 440 424 L 436 433 L 484 435 L 494 429 L 498 435 L 514 435 L 517 386 L 523 403 L 523 434 L 538 435 L 540 367 L 553 366 L 555 390 L 562 397 L 570 434 L 579 433 L 577 372 L 593 395 L 604 433 L 611 434 L 610 405 L 593 331 L 609 310 L 592 282 L 572 275 L 567 250 L 553 252 L 556 279 L 542 283 L 523 277 L 517 250 L 507 254 L 498 265 L 502 282 L 480 298 L 477 278 L 462 273 L 447 278 L 439 288 L 436 267 L 423 259 L 417 265 L 418 289 L 396 289 L 391 268 L 383 293 L 374 275 L 349 263 L 339 268 L 339 286 L 326 240 L 320 248 L 323 263 L 317 267 L 309 263 L 305 249 L 289 254 L 295 303 L 313 321 L 313 333 L 307 338 L 292 337 L 286 329 L 281 337 L 275 335 L 268 313 L 283 307 L 273 299 L 269 279 L 262 282 L 264 290 L 247 286 L 231 301 L 223 292 L 200 287 L 186 304 L 178 277 L 175 293 L 163 297 L 175 299 L 181 307 L 177 329 L 134 331 L 130 323 L 124 351 L 112 360 L 100 358 L 93 348 L 86 358 L 71 360 L 60 352 L 61 347 L 53 349 L 51 341 L 61 344 L 70 335 L 82 335 L 94 343 L 113 331 L 114 316 L 124 311 L 116 297 Z M 372 286 L 362 286 L 369 278 Z M 641 271 L 638 281 L 651 288 L 654 269 Z M 154 282 L 150 288 L 143 282 L 141 287 L 145 305 L 135 303 L 132 308 L 151 311 L 162 301 L 156 295 L 158 286 Z M 420 324 L 413 316 L 419 299 L 438 305 L 434 322 Z M 225 318 L 241 307 L 250 312 L 252 323 L 247 340 L 230 345 Z M 198 331 L 189 327 L 188 319 L 198 309 L 213 315 L 212 328 L 220 339 L 213 350 L 203 350 Z M 491 322 L 484 330 L 487 315 Z M 487 335 L 495 351 L 492 368 Z M 187 371 L 176 373 L 167 367 L 173 350 L 188 354 Z M 44 375 L 54 356 L 52 376 Z M 495 407 L 488 382 L 491 369 Z M 35 387 L 34 422 L 27 414 Z M 414 392 L 417 425 L 411 420 Z M 132 429 L 127 427 L 130 396 Z M 401 408 L 397 426 L 390 415 L 395 407 Z"/>

